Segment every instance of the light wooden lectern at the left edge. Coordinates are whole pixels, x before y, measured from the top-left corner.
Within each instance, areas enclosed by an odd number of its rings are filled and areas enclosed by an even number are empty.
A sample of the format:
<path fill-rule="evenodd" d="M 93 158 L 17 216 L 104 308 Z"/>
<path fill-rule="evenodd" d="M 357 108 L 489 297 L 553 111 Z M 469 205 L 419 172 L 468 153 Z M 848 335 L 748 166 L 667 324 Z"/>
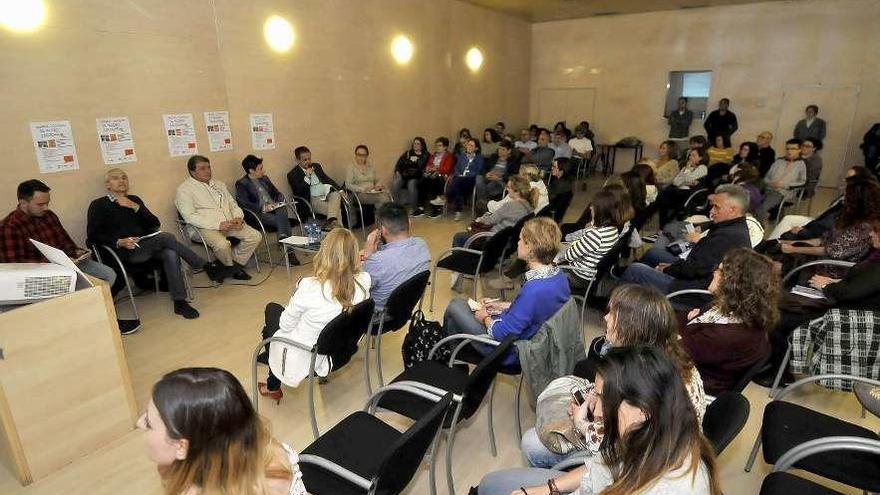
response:
<path fill-rule="evenodd" d="M 134 428 L 106 284 L 0 313 L 0 461 L 30 484 Z"/>

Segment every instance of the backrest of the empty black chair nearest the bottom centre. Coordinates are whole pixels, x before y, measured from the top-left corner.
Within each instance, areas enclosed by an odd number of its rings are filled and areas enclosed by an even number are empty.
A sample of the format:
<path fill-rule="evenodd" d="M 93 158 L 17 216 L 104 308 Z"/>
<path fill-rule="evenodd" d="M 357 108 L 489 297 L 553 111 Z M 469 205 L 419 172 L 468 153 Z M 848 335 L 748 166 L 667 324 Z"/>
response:
<path fill-rule="evenodd" d="M 373 478 L 376 494 L 392 495 L 406 488 L 422 464 L 422 459 L 431 447 L 434 437 L 437 436 L 437 431 L 443 425 L 443 417 L 450 409 L 451 403 L 452 393 L 444 395 L 395 440 Z"/>

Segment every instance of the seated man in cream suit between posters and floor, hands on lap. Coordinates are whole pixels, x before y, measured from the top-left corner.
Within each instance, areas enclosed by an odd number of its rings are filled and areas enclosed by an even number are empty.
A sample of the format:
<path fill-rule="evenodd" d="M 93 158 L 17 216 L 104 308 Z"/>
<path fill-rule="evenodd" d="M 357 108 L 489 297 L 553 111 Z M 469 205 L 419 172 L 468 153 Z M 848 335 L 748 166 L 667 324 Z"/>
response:
<path fill-rule="evenodd" d="M 198 229 L 225 267 L 225 275 L 235 280 L 250 280 L 244 265 L 263 239 L 262 234 L 244 223 L 244 212 L 226 185 L 213 179 L 210 160 L 193 155 L 186 162 L 186 168 L 189 178 L 177 187 L 174 200 L 177 211 L 191 228 Z M 239 240 L 235 247 L 229 237 Z"/>

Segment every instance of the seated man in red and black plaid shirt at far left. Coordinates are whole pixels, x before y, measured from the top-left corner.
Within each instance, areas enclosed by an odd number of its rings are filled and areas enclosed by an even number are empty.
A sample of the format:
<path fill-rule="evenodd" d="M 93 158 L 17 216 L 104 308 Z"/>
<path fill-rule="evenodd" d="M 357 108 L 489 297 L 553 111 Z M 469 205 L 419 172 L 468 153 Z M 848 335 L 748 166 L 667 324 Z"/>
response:
<path fill-rule="evenodd" d="M 92 260 L 89 251 L 78 247 L 58 216 L 49 209 L 49 186 L 36 180 L 26 180 L 18 185 L 18 208 L 6 216 L 0 230 L 0 262 L 3 263 L 48 263 L 49 260 L 29 241 L 33 239 L 64 251 L 74 260 L 77 267 L 92 277 L 99 278 L 110 285 L 111 293 L 119 291 L 116 272 L 107 265 Z M 117 320 L 119 330 L 127 335 L 137 331 L 140 321 Z"/>

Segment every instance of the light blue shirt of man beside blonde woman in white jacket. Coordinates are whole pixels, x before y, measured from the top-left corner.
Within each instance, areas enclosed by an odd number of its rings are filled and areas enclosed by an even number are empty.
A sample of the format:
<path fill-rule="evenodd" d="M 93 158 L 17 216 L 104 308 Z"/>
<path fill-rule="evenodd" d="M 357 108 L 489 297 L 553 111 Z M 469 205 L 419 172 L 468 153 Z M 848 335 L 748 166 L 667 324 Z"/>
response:
<path fill-rule="evenodd" d="M 431 251 L 421 237 L 389 242 L 364 261 L 370 274 L 370 297 L 376 308 L 384 308 L 388 296 L 398 285 L 420 272 L 431 269 Z"/>

